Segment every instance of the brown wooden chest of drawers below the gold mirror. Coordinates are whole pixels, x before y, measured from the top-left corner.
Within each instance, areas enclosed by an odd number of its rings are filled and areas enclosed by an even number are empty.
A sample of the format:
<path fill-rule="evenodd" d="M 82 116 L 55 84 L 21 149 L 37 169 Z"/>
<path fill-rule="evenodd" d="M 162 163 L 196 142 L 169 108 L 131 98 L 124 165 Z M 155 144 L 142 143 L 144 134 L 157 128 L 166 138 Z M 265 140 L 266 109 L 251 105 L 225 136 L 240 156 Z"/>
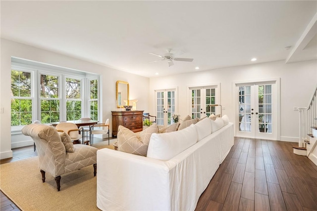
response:
<path fill-rule="evenodd" d="M 133 132 L 143 129 L 144 111 L 111 111 L 112 113 L 112 137 L 117 136 L 118 127 L 129 128 Z"/>

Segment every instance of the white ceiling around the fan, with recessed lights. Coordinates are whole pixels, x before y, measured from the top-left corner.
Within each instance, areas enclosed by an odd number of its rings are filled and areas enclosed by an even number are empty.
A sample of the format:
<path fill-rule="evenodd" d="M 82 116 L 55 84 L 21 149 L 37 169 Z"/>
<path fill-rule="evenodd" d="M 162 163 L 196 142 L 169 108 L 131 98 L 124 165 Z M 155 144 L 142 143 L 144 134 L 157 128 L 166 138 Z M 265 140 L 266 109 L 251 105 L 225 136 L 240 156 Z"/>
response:
<path fill-rule="evenodd" d="M 149 78 L 317 59 L 316 0 L 1 0 L 0 7 L 1 38 Z M 167 49 L 194 61 L 149 63 L 160 59 L 149 52 Z"/>

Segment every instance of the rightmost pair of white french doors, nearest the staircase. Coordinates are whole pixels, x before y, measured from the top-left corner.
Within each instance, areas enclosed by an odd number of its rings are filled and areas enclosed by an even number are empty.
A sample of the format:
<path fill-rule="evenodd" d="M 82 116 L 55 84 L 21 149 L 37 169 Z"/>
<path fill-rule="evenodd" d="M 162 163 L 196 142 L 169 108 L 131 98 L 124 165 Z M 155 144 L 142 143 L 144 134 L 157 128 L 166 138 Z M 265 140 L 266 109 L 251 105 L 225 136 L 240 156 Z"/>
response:
<path fill-rule="evenodd" d="M 237 84 L 236 96 L 236 135 L 276 140 L 276 84 Z"/>

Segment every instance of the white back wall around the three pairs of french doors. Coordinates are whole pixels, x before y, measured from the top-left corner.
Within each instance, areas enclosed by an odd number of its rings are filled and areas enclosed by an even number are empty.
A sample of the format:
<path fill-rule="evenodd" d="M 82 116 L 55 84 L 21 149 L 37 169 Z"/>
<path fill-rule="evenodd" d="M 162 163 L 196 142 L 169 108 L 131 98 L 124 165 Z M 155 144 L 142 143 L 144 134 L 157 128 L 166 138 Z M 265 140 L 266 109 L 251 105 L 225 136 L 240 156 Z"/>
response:
<path fill-rule="evenodd" d="M 168 77 L 150 79 L 150 90 L 164 89 L 166 87 L 178 87 L 178 112 L 181 119 L 189 114 L 186 107 L 187 86 L 220 83 L 221 105 L 225 107 L 222 114 L 227 114 L 231 122 L 235 122 L 233 116 L 232 82 L 263 80 L 280 78 L 280 139 L 285 141 L 298 141 L 299 123 L 298 112 L 294 107 L 306 107 L 313 89 L 317 83 L 317 61 L 298 62 L 285 64 L 285 61 L 268 62 L 254 65 L 245 65 L 196 73 L 186 73 Z M 150 100 L 150 112 L 155 113 L 155 101 Z"/>

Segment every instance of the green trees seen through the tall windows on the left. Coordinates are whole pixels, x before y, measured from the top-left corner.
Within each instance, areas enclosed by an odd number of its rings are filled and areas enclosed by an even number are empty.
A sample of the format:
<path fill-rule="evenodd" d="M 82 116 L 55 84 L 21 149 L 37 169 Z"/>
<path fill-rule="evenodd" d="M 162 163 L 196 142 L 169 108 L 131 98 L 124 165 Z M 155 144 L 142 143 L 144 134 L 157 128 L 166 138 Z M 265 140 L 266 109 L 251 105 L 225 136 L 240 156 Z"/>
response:
<path fill-rule="evenodd" d="M 33 83 L 35 85 L 35 83 Z M 33 85 L 32 84 L 32 85 Z M 59 121 L 58 76 L 40 75 L 40 106 L 41 123 Z M 66 78 L 65 91 L 66 119 L 78 120 L 81 118 L 81 80 Z M 32 99 L 31 99 L 31 73 L 11 70 L 11 126 L 28 125 L 32 123 Z M 98 81 L 90 81 L 91 101 L 90 113 L 93 120 L 98 120 Z M 45 99 L 43 99 L 45 98 Z M 51 99 L 48 99 L 51 98 Z M 37 100 L 37 99 L 35 99 Z"/>

